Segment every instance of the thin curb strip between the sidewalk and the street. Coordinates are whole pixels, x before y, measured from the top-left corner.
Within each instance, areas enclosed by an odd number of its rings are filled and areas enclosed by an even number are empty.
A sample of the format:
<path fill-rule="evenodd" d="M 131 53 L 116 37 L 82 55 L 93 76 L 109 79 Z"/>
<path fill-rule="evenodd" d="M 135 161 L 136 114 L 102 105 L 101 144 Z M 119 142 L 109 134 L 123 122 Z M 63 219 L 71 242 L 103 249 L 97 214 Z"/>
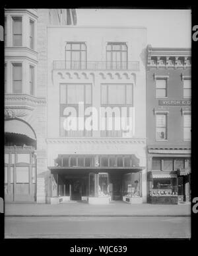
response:
<path fill-rule="evenodd" d="M 191 217 L 191 214 L 149 214 L 149 215 L 140 215 L 140 214 L 7 214 L 5 217 Z"/>

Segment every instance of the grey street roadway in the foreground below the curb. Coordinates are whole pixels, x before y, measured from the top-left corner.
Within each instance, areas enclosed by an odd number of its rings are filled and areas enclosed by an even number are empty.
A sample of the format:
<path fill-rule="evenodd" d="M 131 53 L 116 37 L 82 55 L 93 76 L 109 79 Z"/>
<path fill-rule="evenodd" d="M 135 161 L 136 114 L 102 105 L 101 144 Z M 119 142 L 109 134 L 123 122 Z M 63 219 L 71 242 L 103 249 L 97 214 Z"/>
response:
<path fill-rule="evenodd" d="M 5 238 L 190 237 L 190 217 L 5 217 Z"/>

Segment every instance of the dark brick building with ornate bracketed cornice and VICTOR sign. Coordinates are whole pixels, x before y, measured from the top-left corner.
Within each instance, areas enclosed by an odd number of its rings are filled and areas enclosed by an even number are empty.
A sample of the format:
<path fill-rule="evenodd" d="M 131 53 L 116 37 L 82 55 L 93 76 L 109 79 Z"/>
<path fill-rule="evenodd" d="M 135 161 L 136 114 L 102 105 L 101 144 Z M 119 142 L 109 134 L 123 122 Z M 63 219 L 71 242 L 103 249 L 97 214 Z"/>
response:
<path fill-rule="evenodd" d="M 190 49 L 147 48 L 147 155 L 149 201 L 189 201 Z"/>

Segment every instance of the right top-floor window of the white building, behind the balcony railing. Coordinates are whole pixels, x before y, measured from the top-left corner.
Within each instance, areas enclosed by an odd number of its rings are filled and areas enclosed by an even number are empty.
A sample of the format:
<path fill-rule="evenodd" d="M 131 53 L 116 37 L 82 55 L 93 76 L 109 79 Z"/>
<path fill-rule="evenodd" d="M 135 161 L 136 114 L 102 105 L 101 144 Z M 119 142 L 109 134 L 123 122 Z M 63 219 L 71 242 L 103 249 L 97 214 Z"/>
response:
<path fill-rule="evenodd" d="M 108 42 L 106 46 L 107 69 L 127 69 L 127 44 Z"/>

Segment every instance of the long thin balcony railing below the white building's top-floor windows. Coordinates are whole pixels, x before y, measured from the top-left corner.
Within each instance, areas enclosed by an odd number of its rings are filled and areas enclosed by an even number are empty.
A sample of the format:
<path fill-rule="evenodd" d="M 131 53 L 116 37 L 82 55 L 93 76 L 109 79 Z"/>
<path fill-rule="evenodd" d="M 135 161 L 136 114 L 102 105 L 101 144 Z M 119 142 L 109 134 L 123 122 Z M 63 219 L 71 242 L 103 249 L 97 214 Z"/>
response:
<path fill-rule="evenodd" d="M 139 70 L 139 62 L 81 62 L 53 61 L 53 70 L 88 69 L 88 70 Z"/>

